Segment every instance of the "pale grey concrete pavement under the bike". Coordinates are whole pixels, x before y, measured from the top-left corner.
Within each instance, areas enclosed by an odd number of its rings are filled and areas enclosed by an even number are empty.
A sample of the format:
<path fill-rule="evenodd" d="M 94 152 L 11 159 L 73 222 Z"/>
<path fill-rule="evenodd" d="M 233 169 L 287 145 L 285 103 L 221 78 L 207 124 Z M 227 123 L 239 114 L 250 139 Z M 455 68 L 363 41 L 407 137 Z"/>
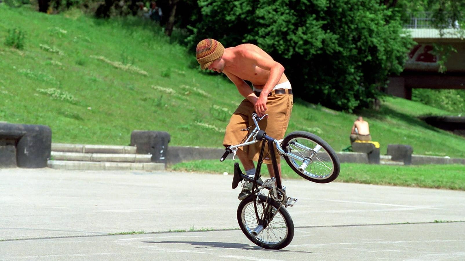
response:
<path fill-rule="evenodd" d="M 232 175 L 13 168 L 0 180 L 0 260 L 465 260 L 465 191 L 285 180 L 295 237 L 269 251 L 237 230 Z M 131 231 L 146 234 L 108 235 Z"/>

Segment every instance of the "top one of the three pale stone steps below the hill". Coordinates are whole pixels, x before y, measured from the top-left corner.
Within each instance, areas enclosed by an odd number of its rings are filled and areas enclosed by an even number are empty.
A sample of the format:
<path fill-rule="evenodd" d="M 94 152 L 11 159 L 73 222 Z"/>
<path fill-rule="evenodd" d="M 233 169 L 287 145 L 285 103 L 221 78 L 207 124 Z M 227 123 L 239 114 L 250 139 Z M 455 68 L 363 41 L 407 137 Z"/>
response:
<path fill-rule="evenodd" d="M 86 144 L 52 143 L 52 151 L 74 152 L 74 153 L 135 154 L 136 147 L 135 146 L 115 146 L 115 145 L 86 145 Z"/>

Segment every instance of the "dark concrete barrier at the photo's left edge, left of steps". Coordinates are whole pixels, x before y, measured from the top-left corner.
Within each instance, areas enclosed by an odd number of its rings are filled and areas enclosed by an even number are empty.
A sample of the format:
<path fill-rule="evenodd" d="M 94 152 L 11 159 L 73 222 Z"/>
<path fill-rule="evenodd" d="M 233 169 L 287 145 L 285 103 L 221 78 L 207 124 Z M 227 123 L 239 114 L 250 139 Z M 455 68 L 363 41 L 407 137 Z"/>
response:
<path fill-rule="evenodd" d="M 52 130 L 44 125 L 0 123 L 2 160 L 0 165 L 44 168 L 50 158 Z M 13 153 L 13 150 L 15 151 Z M 13 158 L 16 158 L 15 160 Z"/>

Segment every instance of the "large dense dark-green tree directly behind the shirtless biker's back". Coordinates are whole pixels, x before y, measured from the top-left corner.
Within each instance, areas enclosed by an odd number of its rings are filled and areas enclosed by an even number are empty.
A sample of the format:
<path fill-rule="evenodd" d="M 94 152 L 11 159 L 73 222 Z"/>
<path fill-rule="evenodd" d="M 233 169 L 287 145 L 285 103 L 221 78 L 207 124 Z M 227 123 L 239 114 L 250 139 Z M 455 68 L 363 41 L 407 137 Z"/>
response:
<path fill-rule="evenodd" d="M 250 42 L 283 64 L 302 99 L 352 111 L 400 73 L 412 41 L 399 15 L 377 0 L 199 0 L 202 20 L 188 39 Z"/>

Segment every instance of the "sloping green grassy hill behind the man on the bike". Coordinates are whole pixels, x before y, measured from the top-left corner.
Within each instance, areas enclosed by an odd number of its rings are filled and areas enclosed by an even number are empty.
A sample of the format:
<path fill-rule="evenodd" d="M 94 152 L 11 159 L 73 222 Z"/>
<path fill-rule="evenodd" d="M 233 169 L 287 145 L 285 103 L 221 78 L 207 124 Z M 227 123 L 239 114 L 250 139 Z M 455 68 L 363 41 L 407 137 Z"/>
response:
<path fill-rule="evenodd" d="M 194 54 L 151 21 L 5 4 L 0 13 L 0 121 L 48 125 L 53 142 L 127 145 L 133 130 L 157 130 L 171 134 L 172 146 L 221 147 L 241 96 L 226 77 L 194 67 Z M 13 29 L 25 33 L 22 50 L 4 44 Z M 356 115 L 294 102 L 288 132 L 310 131 L 336 151 L 349 145 Z M 445 111 L 389 97 L 380 111 L 359 113 L 382 154 L 400 143 L 416 154 L 465 157 L 465 138 L 417 118 Z"/>

